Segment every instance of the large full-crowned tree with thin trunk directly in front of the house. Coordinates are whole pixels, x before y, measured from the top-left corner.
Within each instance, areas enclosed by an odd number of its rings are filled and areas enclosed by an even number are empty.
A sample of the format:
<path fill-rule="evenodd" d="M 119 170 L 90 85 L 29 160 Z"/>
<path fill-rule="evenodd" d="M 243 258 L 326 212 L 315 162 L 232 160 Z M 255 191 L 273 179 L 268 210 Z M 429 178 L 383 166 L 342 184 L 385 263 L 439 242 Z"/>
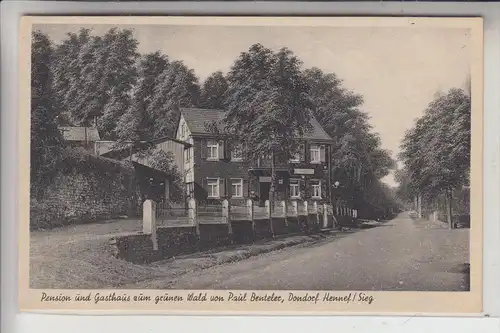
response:
<path fill-rule="evenodd" d="M 273 52 L 255 44 L 231 67 L 227 111 L 219 124 L 228 141 L 244 147 L 255 161 L 271 158 L 269 199 L 274 206 L 276 159 L 298 152 L 298 139 L 311 130 L 310 101 L 301 61 L 288 49 Z M 271 223 L 272 228 L 272 223 Z"/>

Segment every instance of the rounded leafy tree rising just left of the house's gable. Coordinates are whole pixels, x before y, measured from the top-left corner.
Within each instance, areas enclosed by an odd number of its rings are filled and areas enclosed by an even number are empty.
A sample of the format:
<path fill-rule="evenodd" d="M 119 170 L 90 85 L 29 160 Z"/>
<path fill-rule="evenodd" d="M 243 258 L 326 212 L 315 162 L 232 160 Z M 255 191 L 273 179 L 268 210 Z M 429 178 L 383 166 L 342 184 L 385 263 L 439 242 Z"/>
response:
<path fill-rule="evenodd" d="M 172 135 L 179 120 L 179 107 L 196 107 L 200 100 L 200 86 L 194 71 L 182 61 L 172 62 L 158 77 L 147 113 L 155 119 L 151 136 Z"/>

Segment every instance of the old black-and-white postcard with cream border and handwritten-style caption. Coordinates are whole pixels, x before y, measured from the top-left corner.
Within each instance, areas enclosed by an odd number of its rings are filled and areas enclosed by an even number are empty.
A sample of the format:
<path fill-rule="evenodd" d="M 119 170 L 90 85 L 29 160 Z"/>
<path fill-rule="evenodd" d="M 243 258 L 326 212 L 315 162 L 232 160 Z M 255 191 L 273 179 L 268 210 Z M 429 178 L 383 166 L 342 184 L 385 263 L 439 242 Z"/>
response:
<path fill-rule="evenodd" d="M 482 311 L 481 18 L 21 19 L 22 311 Z"/>

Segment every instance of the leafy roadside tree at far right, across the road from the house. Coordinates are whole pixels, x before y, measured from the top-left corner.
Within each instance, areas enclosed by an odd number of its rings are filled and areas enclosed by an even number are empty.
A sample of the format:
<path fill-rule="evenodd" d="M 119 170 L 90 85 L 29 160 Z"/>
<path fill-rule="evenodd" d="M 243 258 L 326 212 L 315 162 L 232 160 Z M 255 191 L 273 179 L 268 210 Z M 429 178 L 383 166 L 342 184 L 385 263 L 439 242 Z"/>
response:
<path fill-rule="evenodd" d="M 470 96 L 462 89 L 437 94 L 401 144 L 403 195 L 427 200 L 442 196 L 450 227 L 453 192 L 469 184 Z"/>

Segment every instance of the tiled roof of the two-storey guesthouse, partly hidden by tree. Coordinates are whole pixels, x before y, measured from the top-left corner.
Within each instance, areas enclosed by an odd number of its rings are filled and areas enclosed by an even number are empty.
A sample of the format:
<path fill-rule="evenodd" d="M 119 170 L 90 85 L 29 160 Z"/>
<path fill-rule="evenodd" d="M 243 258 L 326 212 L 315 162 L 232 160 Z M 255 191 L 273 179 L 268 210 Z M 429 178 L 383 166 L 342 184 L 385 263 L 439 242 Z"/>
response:
<path fill-rule="evenodd" d="M 210 134 L 205 124 L 224 119 L 224 111 L 216 109 L 181 108 L 181 115 L 193 135 Z M 311 115 L 312 131 L 304 135 L 304 139 L 332 141 L 314 116 Z"/>

